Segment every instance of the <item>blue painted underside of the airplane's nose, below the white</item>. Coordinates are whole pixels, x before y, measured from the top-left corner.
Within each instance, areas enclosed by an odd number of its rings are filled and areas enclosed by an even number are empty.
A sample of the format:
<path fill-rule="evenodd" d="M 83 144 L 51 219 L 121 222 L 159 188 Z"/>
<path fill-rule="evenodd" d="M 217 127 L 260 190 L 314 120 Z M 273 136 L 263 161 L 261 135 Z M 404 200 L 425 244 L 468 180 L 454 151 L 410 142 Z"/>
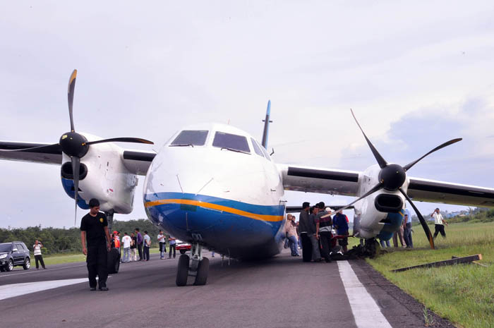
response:
<path fill-rule="evenodd" d="M 235 200 L 188 193 L 154 193 L 145 202 L 185 199 L 209 202 L 263 215 L 284 215 L 284 205 L 253 205 Z M 176 203 L 146 207 L 148 217 L 183 241 L 200 241 L 218 253 L 232 257 L 269 257 L 279 253 L 282 221 L 263 221 L 239 214 Z"/>

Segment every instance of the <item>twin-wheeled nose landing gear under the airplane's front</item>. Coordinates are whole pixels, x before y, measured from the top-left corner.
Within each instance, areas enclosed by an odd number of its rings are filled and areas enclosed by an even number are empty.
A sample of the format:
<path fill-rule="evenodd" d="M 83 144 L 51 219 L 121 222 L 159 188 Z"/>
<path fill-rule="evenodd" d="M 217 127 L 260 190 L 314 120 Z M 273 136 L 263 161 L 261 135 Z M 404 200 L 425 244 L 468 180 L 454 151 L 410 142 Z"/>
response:
<path fill-rule="evenodd" d="M 192 243 L 191 258 L 182 254 L 179 257 L 179 267 L 176 270 L 176 286 L 185 286 L 188 277 L 195 277 L 194 285 L 202 286 L 206 284 L 207 273 L 210 269 L 210 260 L 200 255 L 202 246 L 199 243 Z"/>

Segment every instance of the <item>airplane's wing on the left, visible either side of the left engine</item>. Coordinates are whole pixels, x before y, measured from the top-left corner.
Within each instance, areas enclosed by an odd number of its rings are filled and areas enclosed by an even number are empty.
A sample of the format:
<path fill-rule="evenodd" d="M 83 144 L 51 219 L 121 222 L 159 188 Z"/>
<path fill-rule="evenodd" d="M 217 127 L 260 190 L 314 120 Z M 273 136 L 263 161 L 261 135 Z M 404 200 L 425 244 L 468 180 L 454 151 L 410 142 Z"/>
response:
<path fill-rule="evenodd" d="M 39 142 L 15 142 L 0 141 L 0 159 L 20 162 L 35 162 L 44 164 L 60 165 L 62 162 L 62 151 L 58 144 L 52 147 L 43 147 L 41 149 L 30 149 L 32 147 L 49 146 L 49 143 Z M 23 150 L 20 152 L 3 152 L 2 150 Z M 147 168 L 150 166 L 152 159 L 155 158 L 155 152 L 146 152 L 142 150 L 123 150 L 121 157 L 123 164 L 133 174 L 144 176 Z"/>

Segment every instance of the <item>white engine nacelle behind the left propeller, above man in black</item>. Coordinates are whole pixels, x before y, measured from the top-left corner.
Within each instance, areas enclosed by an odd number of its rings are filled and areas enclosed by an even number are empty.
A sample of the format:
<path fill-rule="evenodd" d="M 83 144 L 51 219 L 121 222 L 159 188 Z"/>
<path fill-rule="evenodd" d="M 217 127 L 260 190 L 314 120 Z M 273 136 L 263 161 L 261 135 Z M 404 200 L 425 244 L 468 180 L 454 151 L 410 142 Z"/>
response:
<path fill-rule="evenodd" d="M 84 133 L 88 140 L 99 138 Z M 71 158 L 62 155 L 61 182 L 67 195 L 75 197 Z M 132 212 L 138 177 L 123 164 L 123 150 L 108 142 L 92 145 L 80 159 L 78 206 L 88 209 L 91 198 L 100 200 L 102 212 Z"/>

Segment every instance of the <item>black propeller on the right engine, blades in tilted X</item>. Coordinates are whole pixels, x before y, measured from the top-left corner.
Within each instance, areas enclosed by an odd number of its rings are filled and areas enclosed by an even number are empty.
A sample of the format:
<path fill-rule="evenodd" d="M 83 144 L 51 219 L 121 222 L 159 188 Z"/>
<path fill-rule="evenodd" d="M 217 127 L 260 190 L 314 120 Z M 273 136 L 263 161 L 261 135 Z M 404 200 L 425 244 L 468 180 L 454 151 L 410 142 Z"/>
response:
<path fill-rule="evenodd" d="M 423 155 L 419 159 L 414 160 L 413 162 L 410 162 L 409 164 L 406 164 L 405 166 L 400 166 L 398 164 L 388 164 L 386 160 L 381 156 L 381 154 L 378 152 L 378 150 L 374 147 L 372 142 L 370 142 L 369 138 L 367 138 L 366 133 L 363 132 L 363 129 L 361 128 L 359 121 L 357 121 L 354 111 L 351 110 L 351 115 L 354 116 L 355 122 L 357 123 L 357 126 L 359 126 L 360 130 L 362 131 L 363 138 L 366 138 L 367 144 L 370 147 L 370 150 L 372 151 L 375 160 L 378 162 L 380 166 L 380 171 L 379 171 L 379 183 L 375 185 L 372 189 L 368 190 L 367 193 L 364 195 L 361 195 L 359 198 L 351 202 L 349 205 L 342 207 L 341 209 L 338 209 L 338 211 L 331 212 L 330 214 L 326 214 L 323 217 L 328 217 L 332 214 L 335 214 L 336 212 L 341 211 L 342 209 L 347 209 L 351 205 L 354 205 L 354 203 L 358 202 L 359 200 L 362 200 L 363 198 L 368 197 L 368 195 L 375 193 L 378 190 L 385 189 L 388 191 L 396 191 L 399 190 L 400 193 L 404 195 L 406 200 L 410 203 L 411 207 L 414 208 L 415 213 L 417 214 L 418 221 L 420 221 L 423 231 L 426 233 L 427 239 L 430 243 L 430 248 L 434 249 L 434 239 L 432 234 L 430 233 L 429 226 L 427 225 L 426 220 L 423 218 L 422 214 L 420 211 L 418 211 L 418 208 L 415 206 L 414 202 L 412 202 L 411 198 L 409 198 L 408 195 L 406 195 L 405 191 L 403 190 L 402 186 L 406 181 L 406 171 L 411 169 L 412 166 L 417 164 L 418 162 L 421 161 L 424 157 L 428 156 L 429 154 L 432 154 L 433 152 L 440 150 L 444 147 L 447 147 L 449 145 L 452 145 L 456 142 L 459 142 L 462 140 L 462 138 L 456 138 L 452 139 L 450 141 L 447 141 L 443 143 L 442 145 L 439 145 L 438 147 L 435 147 L 433 150 L 430 150 L 427 154 Z"/>

